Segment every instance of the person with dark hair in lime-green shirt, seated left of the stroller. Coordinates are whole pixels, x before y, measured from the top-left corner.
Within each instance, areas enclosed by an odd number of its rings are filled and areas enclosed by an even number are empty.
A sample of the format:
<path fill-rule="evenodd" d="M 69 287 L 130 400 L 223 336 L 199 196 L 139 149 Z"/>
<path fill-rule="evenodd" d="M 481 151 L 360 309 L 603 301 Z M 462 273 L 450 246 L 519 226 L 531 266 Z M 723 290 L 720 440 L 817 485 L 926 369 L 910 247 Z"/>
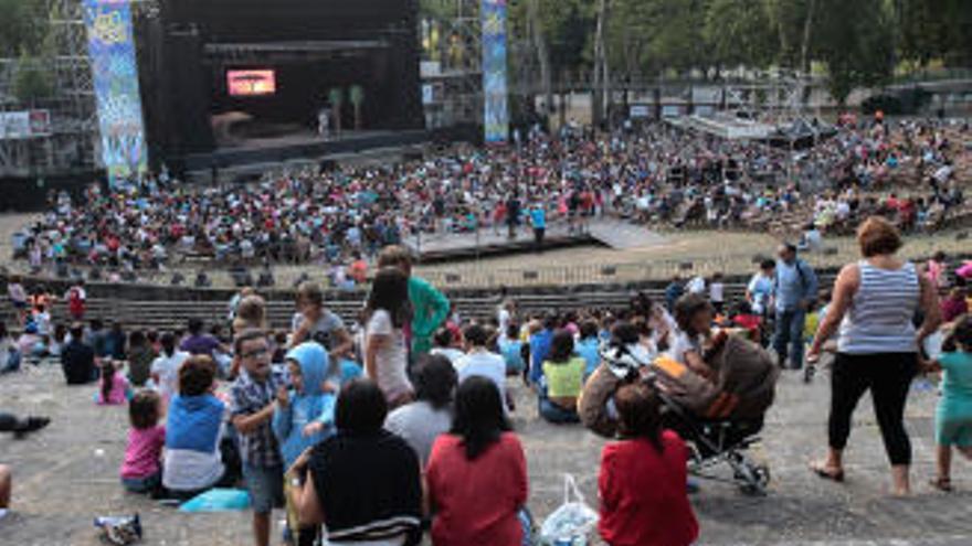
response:
<path fill-rule="evenodd" d="M 558 330 L 550 342 L 550 355 L 543 362 L 539 413 L 554 422 L 580 422 L 577 400 L 584 386 L 587 361 L 574 354 L 573 334 Z"/>

